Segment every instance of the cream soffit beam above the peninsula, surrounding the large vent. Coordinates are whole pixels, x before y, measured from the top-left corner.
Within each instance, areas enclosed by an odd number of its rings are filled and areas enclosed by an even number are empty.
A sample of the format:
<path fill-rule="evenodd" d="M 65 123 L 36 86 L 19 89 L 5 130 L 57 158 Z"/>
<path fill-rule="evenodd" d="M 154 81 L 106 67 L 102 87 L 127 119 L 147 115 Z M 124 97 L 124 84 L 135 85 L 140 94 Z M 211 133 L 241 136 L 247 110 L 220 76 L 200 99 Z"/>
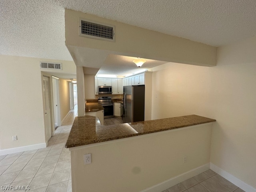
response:
<path fill-rule="evenodd" d="M 79 17 L 114 25 L 115 42 L 79 36 Z M 214 46 L 69 9 L 65 9 L 65 37 L 66 46 L 77 66 L 100 68 L 95 61 L 90 62 L 94 53 L 98 53 L 95 57 L 103 57 L 103 60 L 106 59 L 105 54 L 118 54 L 167 62 L 216 65 L 217 48 Z M 92 49 L 90 52 L 89 48 Z"/>

